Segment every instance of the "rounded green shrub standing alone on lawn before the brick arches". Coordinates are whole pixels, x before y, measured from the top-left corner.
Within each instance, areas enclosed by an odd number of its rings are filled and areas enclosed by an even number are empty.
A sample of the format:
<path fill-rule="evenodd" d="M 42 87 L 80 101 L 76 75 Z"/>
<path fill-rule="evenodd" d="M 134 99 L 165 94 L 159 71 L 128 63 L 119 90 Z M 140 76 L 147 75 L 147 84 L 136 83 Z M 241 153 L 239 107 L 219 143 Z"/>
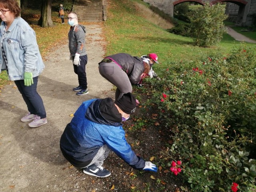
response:
<path fill-rule="evenodd" d="M 223 21 L 227 18 L 220 4 L 206 2 L 190 14 L 191 33 L 196 46 L 212 46 L 220 42 L 226 32 Z"/>

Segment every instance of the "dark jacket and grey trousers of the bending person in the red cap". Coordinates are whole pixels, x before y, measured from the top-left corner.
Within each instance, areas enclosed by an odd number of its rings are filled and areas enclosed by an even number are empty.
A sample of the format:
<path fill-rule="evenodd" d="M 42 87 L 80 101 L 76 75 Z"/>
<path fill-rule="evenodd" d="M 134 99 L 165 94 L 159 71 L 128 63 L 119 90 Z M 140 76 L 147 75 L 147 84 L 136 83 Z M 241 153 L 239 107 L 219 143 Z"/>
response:
<path fill-rule="evenodd" d="M 101 76 L 116 86 L 115 100 L 132 92 L 132 84 L 140 84 L 149 70 L 147 62 L 126 53 L 107 56 L 99 63 Z"/>

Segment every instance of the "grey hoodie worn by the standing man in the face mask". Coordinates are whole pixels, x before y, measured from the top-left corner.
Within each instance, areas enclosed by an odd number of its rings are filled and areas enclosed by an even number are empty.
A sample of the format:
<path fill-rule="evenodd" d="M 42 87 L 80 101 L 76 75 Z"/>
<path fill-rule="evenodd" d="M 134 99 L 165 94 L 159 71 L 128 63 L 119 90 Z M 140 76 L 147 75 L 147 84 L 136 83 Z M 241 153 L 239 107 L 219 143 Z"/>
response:
<path fill-rule="evenodd" d="M 85 33 L 85 26 L 83 25 L 77 24 L 70 27 L 68 32 L 68 48 L 72 56 L 75 56 L 76 53 L 80 54 L 80 56 L 87 54 L 85 49 Z"/>

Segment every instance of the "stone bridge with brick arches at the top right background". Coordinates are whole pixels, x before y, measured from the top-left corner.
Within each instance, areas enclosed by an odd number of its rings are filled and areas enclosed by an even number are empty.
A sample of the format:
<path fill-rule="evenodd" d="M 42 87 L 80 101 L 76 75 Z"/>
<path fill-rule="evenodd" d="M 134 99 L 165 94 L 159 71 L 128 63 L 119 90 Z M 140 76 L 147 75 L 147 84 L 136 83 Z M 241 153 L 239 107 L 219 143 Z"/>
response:
<path fill-rule="evenodd" d="M 173 17 L 174 6 L 184 2 L 204 4 L 202 0 L 144 0 Z M 226 14 L 233 16 L 233 22 L 238 26 L 250 26 L 256 22 L 256 0 L 210 0 L 212 4 L 228 2 Z"/>

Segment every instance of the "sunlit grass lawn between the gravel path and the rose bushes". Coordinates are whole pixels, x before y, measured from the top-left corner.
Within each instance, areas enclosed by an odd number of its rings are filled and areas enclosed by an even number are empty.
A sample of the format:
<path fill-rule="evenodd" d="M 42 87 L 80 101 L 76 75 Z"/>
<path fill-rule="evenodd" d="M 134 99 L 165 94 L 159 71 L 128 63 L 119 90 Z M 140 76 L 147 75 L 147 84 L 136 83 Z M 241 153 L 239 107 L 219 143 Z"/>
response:
<path fill-rule="evenodd" d="M 170 67 L 170 62 L 176 60 L 201 60 L 215 52 L 225 56 L 241 44 L 226 34 L 214 47 L 193 46 L 192 38 L 169 33 L 142 18 L 143 13 L 137 12 L 130 0 L 122 2 L 111 0 L 109 5 L 109 17 L 104 26 L 108 41 L 107 55 L 126 52 L 141 56 L 155 52 L 160 61 L 160 65 L 155 65 L 158 69 Z M 256 46 L 256 44 L 245 44 Z"/>

